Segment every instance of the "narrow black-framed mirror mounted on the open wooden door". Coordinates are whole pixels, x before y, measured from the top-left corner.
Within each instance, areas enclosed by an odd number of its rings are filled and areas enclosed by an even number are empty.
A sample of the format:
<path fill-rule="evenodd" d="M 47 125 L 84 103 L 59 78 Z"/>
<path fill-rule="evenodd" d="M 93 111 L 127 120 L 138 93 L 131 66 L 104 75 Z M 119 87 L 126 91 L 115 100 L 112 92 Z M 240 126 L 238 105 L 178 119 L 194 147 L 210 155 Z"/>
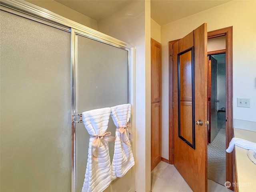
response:
<path fill-rule="evenodd" d="M 178 54 L 179 138 L 195 149 L 194 47 Z"/>

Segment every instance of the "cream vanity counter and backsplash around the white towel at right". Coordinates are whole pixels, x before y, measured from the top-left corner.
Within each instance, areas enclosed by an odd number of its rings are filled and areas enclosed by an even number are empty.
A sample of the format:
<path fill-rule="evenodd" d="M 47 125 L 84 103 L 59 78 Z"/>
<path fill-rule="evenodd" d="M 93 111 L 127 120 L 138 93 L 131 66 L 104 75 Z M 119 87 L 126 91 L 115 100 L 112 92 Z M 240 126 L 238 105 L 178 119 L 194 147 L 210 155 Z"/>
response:
<path fill-rule="evenodd" d="M 234 137 L 256 142 L 256 132 L 234 128 Z M 247 156 L 244 148 L 235 146 L 236 170 L 239 192 L 256 191 L 256 164 Z M 236 183 L 234 183 L 236 185 Z"/>

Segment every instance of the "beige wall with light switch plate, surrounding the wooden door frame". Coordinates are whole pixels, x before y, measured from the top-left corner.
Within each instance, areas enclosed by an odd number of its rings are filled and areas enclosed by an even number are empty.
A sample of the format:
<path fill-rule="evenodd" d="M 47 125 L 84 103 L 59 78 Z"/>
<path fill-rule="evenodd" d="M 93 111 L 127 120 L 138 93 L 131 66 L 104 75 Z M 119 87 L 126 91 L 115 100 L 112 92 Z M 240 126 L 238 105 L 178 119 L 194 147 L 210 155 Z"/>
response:
<path fill-rule="evenodd" d="M 186 36 L 207 23 L 208 31 L 233 26 L 233 114 L 234 119 L 256 122 L 256 1 L 235 0 L 161 26 L 162 106 L 168 106 L 168 42 Z M 236 98 L 250 98 L 250 108 L 236 105 Z M 162 145 L 168 140 L 168 108 L 162 109 Z M 168 159 L 168 150 L 162 150 Z"/>

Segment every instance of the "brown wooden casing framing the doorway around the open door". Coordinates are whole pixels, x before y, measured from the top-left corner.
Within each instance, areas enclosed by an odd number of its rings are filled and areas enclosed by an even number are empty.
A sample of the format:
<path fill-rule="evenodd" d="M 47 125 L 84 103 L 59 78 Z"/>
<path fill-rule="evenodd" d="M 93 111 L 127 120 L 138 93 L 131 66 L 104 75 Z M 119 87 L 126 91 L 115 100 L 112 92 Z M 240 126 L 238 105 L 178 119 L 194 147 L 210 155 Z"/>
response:
<path fill-rule="evenodd" d="M 210 31 L 207 38 L 226 35 L 226 148 L 234 136 L 233 130 L 233 26 Z M 169 161 L 173 164 L 173 49 L 177 40 L 169 42 Z M 223 52 L 223 50 L 220 50 Z M 217 53 L 217 52 L 216 52 Z M 234 154 L 226 153 L 226 181 L 234 182 Z M 230 190 L 234 190 L 233 186 Z"/>

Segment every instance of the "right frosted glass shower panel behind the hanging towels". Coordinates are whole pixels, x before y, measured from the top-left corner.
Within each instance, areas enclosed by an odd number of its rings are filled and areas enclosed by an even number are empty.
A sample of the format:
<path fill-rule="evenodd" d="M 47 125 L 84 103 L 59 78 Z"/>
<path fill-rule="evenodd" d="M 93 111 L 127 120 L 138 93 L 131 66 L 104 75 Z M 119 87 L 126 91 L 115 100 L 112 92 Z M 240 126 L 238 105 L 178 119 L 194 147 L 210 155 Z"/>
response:
<path fill-rule="evenodd" d="M 76 111 L 112 107 L 128 102 L 128 51 L 77 36 L 78 68 Z M 108 131 L 115 136 L 110 117 Z M 81 191 L 88 158 L 89 134 L 84 124 L 76 125 L 76 191 Z M 114 142 L 109 142 L 110 159 Z"/>

